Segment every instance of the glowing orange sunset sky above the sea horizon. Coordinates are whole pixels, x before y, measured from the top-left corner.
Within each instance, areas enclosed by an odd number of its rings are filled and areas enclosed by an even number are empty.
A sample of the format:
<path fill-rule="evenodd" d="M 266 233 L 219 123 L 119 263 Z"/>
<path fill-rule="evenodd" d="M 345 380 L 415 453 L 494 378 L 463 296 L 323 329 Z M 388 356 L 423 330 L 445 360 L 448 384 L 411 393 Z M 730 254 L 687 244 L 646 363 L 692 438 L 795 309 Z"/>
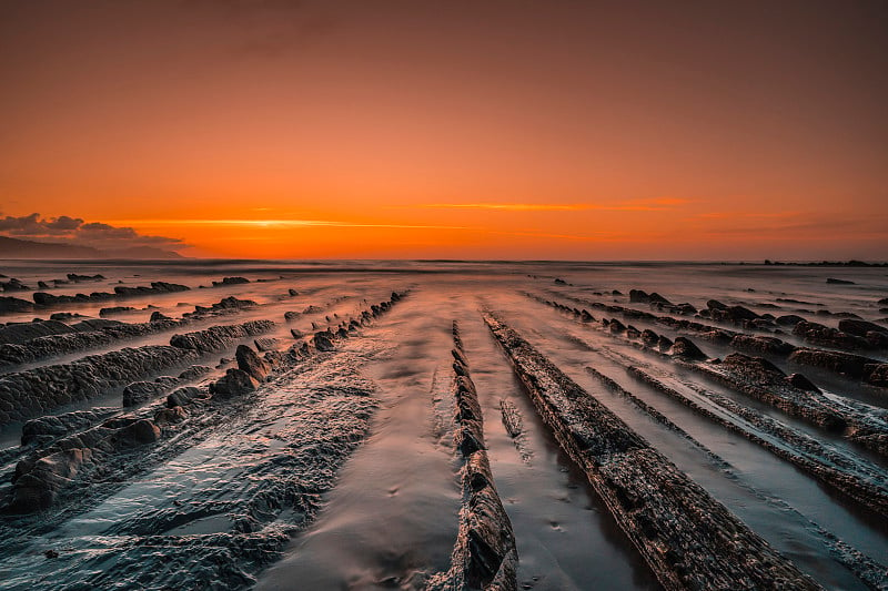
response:
<path fill-rule="evenodd" d="M 0 0 L 0 235 L 888 259 L 885 1 Z"/>

